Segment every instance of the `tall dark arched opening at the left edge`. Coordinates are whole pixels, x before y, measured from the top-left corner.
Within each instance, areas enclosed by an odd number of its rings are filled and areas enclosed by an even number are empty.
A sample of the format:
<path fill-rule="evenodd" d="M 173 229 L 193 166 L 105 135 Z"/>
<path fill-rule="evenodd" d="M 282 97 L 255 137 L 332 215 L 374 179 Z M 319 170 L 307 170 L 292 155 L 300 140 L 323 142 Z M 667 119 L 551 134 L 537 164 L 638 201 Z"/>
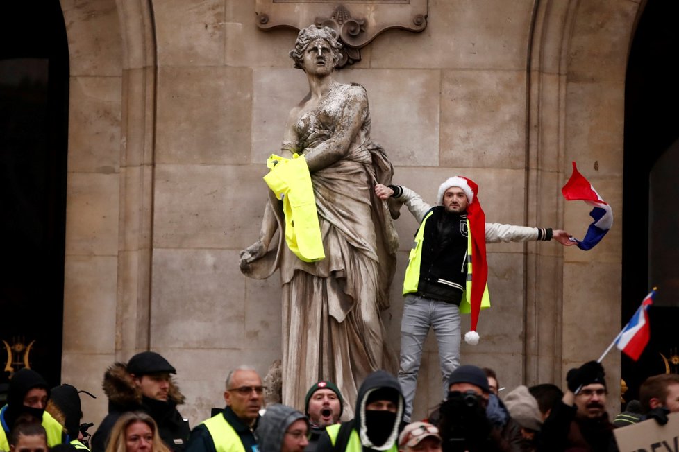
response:
<path fill-rule="evenodd" d="M 69 53 L 58 0 L 0 7 L 0 383 L 60 382 Z M 31 345 L 32 343 L 32 345 Z M 31 345 L 30 349 L 27 349 Z M 12 355 L 12 360 L 8 358 Z"/>

